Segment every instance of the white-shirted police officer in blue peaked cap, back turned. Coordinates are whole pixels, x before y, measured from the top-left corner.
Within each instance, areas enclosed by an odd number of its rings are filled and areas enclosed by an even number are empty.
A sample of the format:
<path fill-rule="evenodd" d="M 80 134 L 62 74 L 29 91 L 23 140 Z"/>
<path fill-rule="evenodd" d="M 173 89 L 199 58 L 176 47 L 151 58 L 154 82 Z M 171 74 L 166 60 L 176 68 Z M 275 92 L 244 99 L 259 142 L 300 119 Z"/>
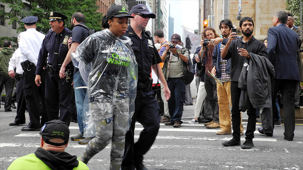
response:
<path fill-rule="evenodd" d="M 41 86 L 35 85 L 35 71 L 38 61 L 38 54 L 45 35 L 36 31 L 38 18 L 28 16 L 22 19 L 27 31 L 18 36 L 18 44 L 24 60 L 21 62 L 24 70 L 23 90 L 26 106 L 29 115 L 29 124 L 22 127 L 22 131 L 40 131 L 40 127 L 48 122 L 45 105 L 45 70 L 41 72 Z M 42 118 L 40 124 L 40 103 L 42 107 Z"/>

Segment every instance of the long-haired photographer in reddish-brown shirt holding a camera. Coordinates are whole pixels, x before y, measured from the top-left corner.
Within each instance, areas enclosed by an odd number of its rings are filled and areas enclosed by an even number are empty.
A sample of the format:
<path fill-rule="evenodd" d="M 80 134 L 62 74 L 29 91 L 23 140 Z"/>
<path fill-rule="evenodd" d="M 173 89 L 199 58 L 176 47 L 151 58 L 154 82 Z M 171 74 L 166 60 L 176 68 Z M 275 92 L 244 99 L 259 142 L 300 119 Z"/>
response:
<path fill-rule="evenodd" d="M 219 35 L 216 33 L 214 28 L 206 27 L 203 32 L 203 37 L 206 37 L 204 42 L 201 42 L 203 48 L 201 48 L 199 52 L 199 56 L 205 60 L 205 90 L 207 93 L 208 101 L 211 105 L 212 110 L 212 117 L 207 118 L 209 124 L 206 124 L 206 128 L 208 129 L 216 129 L 220 127 L 219 124 L 219 106 L 218 106 L 218 96 L 217 96 L 217 84 L 211 74 L 208 73 L 212 70 L 212 54 L 215 48 L 215 44 L 211 43 L 211 39 L 218 38 Z M 203 53 L 203 54 L 202 54 Z M 200 60 L 199 58 L 196 59 L 197 62 Z"/>

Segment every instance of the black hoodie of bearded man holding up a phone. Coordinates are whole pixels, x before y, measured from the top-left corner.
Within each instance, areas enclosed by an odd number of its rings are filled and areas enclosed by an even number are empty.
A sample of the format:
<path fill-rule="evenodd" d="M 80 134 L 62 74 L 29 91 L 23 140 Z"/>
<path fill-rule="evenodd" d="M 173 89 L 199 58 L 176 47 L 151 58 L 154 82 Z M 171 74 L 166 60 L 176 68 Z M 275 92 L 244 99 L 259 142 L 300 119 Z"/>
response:
<path fill-rule="evenodd" d="M 240 48 L 246 49 L 248 53 L 250 52 L 253 54 L 258 54 L 266 58 L 268 56 L 264 43 L 258 41 L 254 36 L 252 36 L 252 38 L 246 43 L 243 42 L 243 36 L 239 39 L 231 41 L 224 59 L 228 60 L 231 58 L 231 72 L 229 74 L 231 81 L 236 82 L 239 81 L 240 73 L 245 60 L 244 56 L 239 55 L 238 49 Z"/>

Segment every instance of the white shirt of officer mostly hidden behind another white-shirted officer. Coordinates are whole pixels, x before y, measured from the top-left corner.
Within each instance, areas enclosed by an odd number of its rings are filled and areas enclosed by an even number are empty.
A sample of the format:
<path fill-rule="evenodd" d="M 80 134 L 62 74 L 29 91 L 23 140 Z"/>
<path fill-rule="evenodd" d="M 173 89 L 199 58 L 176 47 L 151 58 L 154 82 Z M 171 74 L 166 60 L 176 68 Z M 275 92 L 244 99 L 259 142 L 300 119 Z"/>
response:
<path fill-rule="evenodd" d="M 8 63 L 8 72 L 14 71 L 14 68 L 16 68 L 16 73 L 23 74 L 23 69 L 20 63 L 24 60 L 25 57 L 21 54 L 20 48 L 17 48 L 17 50 L 14 52 L 12 58 Z"/>

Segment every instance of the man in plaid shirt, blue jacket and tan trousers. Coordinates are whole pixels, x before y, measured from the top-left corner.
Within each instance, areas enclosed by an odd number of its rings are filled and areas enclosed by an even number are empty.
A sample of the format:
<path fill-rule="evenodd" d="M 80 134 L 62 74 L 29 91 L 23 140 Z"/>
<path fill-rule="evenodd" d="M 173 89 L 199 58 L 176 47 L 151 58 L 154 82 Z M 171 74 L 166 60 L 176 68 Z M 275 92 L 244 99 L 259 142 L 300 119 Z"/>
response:
<path fill-rule="evenodd" d="M 212 70 L 211 73 L 215 74 L 216 77 L 221 81 L 223 86 L 217 82 L 217 94 L 218 94 L 218 105 L 219 105 L 219 122 L 221 131 L 216 132 L 217 135 L 228 135 L 231 134 L 231 116 L 229 110 L 229 104 L 231 104 L 230 94 L 230 67 L 231 60 L 224 60 L 220 57 L 221 51 L 228 41 L 231 28 L 233 28 L 231 20 L 225 19 L 220 22 L 219 28 L 224 38 L 224 42 L 220 42 L 215 46 L 214 53 L 212 55 Z M 238 36 L 237 36 L 238 38 Z M 219 39 L 219 38 L 217 38 Z M 242 115 L 241 115 L 242 118 Z M 241 119 L 240 134 L 243 135 L 243 125 Z"/>

